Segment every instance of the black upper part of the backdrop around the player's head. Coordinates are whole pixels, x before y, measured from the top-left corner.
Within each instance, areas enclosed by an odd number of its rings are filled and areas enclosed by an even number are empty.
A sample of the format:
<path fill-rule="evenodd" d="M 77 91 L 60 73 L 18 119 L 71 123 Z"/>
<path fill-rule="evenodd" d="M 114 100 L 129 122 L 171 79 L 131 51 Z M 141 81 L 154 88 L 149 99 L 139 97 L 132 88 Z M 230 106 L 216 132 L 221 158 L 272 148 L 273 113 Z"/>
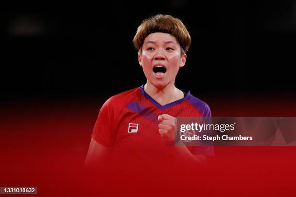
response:
<path fill-rule="evenodd" d="M 2 7 L 1 99 L 103 97 L 145 83 L 132 40 L 153 14 L 187 26 L 177 87 L 215 97 L 295 92 L 296 1 L 86 2 Z"/>

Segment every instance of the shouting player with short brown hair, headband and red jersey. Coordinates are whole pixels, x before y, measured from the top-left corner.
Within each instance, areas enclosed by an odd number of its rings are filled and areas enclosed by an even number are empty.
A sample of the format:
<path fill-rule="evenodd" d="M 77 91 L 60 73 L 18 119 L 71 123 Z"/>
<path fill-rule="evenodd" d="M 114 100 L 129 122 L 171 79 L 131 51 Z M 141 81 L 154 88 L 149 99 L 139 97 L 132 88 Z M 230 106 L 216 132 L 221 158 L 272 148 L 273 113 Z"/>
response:
<path fill-rule="evenodd" d="M 212 146 L 175 146 L 176 117 L 210 117 L 208 105 L 175 86 L 191 36 L 178 18 L 158 14 L 137 28 L 133 44 L 147 83 L 108 99 L 92 132 L 86 166 L 180 160 L 204 163 Z M 109 165 L 109 164 L 108 164 Z"/>

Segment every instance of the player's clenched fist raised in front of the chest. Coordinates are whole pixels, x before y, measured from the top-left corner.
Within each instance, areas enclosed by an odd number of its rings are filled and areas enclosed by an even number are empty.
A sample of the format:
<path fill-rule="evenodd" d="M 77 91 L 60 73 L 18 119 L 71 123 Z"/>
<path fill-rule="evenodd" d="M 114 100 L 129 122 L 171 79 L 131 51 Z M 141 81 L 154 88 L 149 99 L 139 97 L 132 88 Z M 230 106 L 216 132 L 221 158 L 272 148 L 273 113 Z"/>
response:
<path fill-rule="evenodd" d="M 173 144 L 175 141 L 175 121 L 176 118 L 168 114 L 158 116 L 158 131 L 167 144 Z"/>

